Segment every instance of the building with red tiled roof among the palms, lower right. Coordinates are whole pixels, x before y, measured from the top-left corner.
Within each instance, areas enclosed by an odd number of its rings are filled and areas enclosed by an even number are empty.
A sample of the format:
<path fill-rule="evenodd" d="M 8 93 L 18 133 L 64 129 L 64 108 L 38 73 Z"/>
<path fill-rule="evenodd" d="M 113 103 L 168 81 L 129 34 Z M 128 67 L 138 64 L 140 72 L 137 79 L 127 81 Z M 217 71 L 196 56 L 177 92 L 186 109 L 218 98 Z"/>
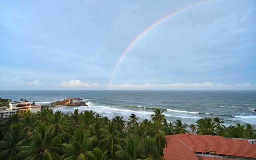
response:
<path fill-rule="evenodd" d="M 166 160 L 256 160 L 255 140 L 198 134 L 166 136 Z"/>

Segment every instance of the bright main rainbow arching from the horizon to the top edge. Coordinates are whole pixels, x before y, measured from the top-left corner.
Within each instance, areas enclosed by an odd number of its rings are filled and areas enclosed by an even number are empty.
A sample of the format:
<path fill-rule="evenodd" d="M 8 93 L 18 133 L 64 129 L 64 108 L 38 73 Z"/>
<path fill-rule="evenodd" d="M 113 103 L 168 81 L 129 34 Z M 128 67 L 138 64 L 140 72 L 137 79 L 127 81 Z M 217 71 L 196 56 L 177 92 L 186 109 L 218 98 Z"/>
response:
<path fill-rule="evenodd" d="M 116 69 L 118 68 L 120 62 L 122 61 L 122 59 L 124 58 L 124 56 L 127 54 L 127 52 L 132 48 L 132 46 L 138 42 L 138 40 L 140 40 L 140 38 L 142 38 L 142 36 L 144 36 L 147 32 L 149 32 L 151 29 L 153 29 L 155 26 L 157 26 L 158 24 L 160 24 L 161 22 L 164 22 L 165 20 L 167 20 L 168 18 L 180 13 L 180 12 L 183 12 L 185 10 L 188 10 L 190 8 L 193 8 L 193 7 L 196 7 L 196 6 L 199 6 L 199 5 L 202 5 L 202 4 L 206 4 L 206 3 L 209 3 L 209 2 L 213 2 L 215 0 L 205 0 L 205 1 L 202 1 L 202 2 L 198 2 L 196 4 L 192 4 L 191 6 L 187 6 L 185 8 L 182 8 L 180 10 L 176 10 L 175 12 L 172 12 L 171 14 L 168 14 L 167 16 L 161 18 L 160 20 L 156 21 L 154 24 L 152 24 L 151 26 L 149 26 L 146 30 L 144 30 L 143 32 L 141 32 L 130 44 L 129 46 L 124 50 L 124 52 L 122 53 L 122 55 L 120 56 L 120 58 L 118 59 L 118 61 L 116 62 L 116 65 L 110 75 L 110 79 L 109 79 L 109 82 L 108 82 L 108 86 L 107 86 L 107 90 L 110 88 L 110 85 L 111 85 L 111 82 L 112 82 L 112 79 L 113 79 L 113 76 L 114 76 L 114 73 L 116 72 Z"/>

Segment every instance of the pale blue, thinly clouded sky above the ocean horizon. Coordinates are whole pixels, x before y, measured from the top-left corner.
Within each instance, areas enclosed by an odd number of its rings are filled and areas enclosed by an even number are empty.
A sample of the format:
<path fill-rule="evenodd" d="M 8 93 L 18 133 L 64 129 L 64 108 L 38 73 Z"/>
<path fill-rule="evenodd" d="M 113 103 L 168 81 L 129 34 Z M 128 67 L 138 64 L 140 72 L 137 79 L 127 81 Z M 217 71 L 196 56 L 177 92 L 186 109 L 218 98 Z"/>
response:
<path fill-rule="evenodd" d="M 104 90 L 141 32 L 202 0 L 1 0 L 0 90 Z M 256 1 L 215 0 L 164 20 L 110 89 L 256 89 Z"/>

